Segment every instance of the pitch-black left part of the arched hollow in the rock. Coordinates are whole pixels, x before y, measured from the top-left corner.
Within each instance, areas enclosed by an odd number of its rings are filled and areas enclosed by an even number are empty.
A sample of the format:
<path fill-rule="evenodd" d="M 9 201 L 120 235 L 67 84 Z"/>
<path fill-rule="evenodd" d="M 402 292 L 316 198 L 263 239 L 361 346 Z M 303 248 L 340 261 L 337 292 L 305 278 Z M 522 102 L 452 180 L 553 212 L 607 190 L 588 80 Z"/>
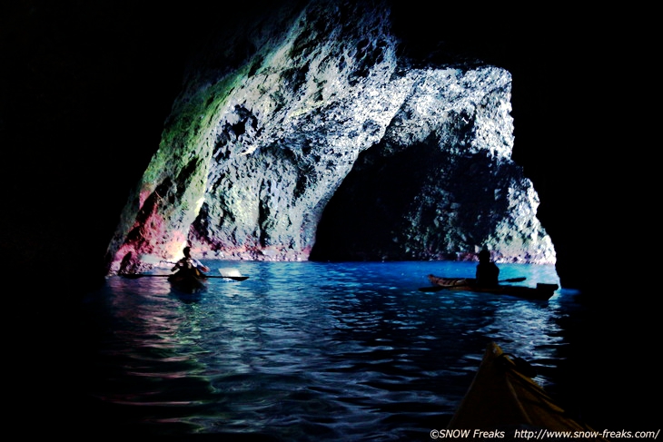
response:
<path fill-rule="evenodd" d="M 435 167 L 424 144 L 390 156 L 383 156 L 382 148 L 361 152 L 325 207 L 310 260 L 381 260 L 400 254 L 395 232 L 406 227 L 402 215 Z"/>

